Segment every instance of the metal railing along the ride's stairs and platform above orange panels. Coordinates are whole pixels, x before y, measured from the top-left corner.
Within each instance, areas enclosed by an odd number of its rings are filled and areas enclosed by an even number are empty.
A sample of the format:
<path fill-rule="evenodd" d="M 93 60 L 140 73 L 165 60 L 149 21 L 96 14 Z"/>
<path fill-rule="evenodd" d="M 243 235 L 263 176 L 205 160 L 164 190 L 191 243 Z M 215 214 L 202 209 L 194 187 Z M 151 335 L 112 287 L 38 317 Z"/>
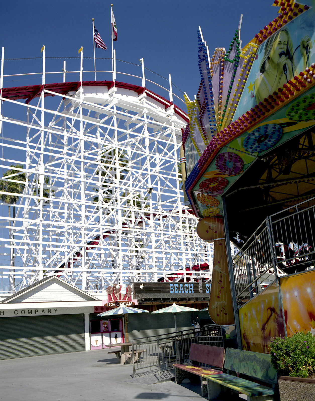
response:
<path fill-rule="evenodd" d="M 314 204 L 315 198 L 311 198 L 267 217 L 233 257 L 239 307 L 278 279 L 279 274 L 314 266 Z"/>

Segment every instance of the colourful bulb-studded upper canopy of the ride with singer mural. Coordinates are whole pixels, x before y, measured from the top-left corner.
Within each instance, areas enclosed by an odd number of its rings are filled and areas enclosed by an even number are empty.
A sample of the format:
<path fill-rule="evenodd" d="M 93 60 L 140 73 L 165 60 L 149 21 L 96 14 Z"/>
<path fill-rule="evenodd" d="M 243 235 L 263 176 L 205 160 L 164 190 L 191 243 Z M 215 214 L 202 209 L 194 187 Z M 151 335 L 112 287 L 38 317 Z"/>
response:
<path fill-rule="evenodd" d="M 198 36 L 200 85 L 185 97 L 185 189 L 198 217 L 222 217 L 221 197 L 264 152 L 314 125 L 315 1 L 274 2 L 266 21 L 242 46 L 241 20 L 229 48 Z M 220 44 L 221 46 L 222 44 Z"/>

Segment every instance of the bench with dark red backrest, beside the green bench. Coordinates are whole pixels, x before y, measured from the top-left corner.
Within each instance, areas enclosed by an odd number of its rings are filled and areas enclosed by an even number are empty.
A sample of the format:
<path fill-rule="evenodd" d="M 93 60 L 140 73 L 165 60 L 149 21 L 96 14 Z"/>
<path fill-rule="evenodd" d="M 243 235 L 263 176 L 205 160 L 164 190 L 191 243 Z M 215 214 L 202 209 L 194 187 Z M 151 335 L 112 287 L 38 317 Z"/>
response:
<path fill-rule="evenodd" d="M 175 382 L 182 383 L 184 379 L 191 382 L 201 382 L 201 395 L 207 396 L 207 382 L 203 380 L 203 375 L 211 373 L 217 375 L 222 372 L 224 360 L 224 348 L 211 345 L 195 344 L 190 345 L 189 359 L 191 363 L 174 363 Z M 215 366 L 218 369 L 200 366 L 206 364 Z"/>

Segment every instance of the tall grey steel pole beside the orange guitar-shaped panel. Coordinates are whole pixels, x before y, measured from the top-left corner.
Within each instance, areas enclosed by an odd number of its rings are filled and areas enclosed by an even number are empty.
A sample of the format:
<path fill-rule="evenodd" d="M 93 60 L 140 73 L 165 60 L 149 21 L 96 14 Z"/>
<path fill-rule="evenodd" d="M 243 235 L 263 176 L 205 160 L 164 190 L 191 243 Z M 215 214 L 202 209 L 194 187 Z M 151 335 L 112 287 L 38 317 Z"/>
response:
<path fill-rule="evenodd" d="M 223 221 L 224 221 L 224 231 L 225 231 L 225 246 L 226 246 L 226 250 L 227 250 L 227 266 L 229 269 L 231 297 L 232 297 L 232 305 L 233 305 L 233 312 L 234 312 L 235 333 L 236 333 L 237 347 L 239 349 L 242 349 L 241 330 L 239 327 L 239 315 L 238 315 L 237 302 L 236 302 L 235 279 L 234 279 L 233 263 L 232 263 L 232 256 L 231 256 L 229 225 L 227 223 L 227 213 L 226 213 L 226 205 L 225 205 L 225 197 L 224 196 L 222 196 L 222 207 L 223 207 Z"/>

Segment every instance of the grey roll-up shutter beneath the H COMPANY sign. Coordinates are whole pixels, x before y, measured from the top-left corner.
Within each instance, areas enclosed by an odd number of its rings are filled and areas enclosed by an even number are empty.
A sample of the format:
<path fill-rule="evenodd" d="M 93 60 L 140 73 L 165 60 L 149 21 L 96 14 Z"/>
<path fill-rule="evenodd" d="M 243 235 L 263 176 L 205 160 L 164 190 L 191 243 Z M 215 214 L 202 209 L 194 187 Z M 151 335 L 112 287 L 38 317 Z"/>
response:
<path fill-rule="evenodd" d="M 84 314 L 0 318 L 0 359 L 84 350 Z"/>

